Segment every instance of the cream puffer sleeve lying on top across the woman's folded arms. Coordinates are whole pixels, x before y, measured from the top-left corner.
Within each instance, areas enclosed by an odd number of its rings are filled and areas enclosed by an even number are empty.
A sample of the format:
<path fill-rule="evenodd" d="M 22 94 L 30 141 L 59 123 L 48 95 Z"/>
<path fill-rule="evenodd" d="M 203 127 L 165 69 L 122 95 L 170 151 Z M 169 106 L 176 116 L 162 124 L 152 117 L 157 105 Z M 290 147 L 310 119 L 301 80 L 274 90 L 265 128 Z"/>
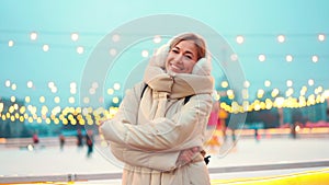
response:
<path fill-rule="evenodd" d="M 134 125 L 123 116 L 123 114 L 132 114 L 128 106 L 132 102 L 128 103 L 126 100 L 123 101 L 121 107 L 121 109 L 125 108 L 123 112 L 126 113 L 120 113 L 120 119 L 107 120 L 101 127 L 104 138 L 127 148 L 149 152 L 181 151 L 195 147 L 186 146 L 186 143 L 189 140 L 200 138 L 196 136 L 204 131 L 212 109 L 211 95 L 198 94 L 192 96 L 189 103 L 170 118 L 156 118 L 149 123 Z M 200 140 L 198 143 L 202 146 L 203 141 Z"/>

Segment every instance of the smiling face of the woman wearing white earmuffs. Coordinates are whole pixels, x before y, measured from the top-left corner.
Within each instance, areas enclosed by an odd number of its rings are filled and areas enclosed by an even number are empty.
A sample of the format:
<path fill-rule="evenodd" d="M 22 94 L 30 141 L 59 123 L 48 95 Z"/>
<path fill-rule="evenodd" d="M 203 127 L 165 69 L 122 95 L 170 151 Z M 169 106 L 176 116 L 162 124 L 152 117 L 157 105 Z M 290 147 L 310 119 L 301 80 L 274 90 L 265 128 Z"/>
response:
<path fill-rule="evenodd" d="M 193 41 L 178 43 L 166 59 L 167 71 L 175 73 L 191 73 L 197 61 L 197 49 Z"/>

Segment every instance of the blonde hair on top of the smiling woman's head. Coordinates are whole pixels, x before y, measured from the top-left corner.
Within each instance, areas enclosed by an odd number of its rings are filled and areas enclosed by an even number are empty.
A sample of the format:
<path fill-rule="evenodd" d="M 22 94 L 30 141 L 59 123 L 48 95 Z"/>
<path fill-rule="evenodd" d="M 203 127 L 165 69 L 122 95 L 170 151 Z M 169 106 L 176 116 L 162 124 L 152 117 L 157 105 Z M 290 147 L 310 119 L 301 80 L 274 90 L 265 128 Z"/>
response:
<path fill-rule="evenodd" d="M 169 45 L 169 50 L 171 50 L 175 45 L 178 45 L 182 41 L 194 42 L 194 44 L 196 46 L 196 50 L 197 50 L 197 60 L 205 57 L 205 55 L 206 55 L 205 41 L 201 36 L 193 34 L 193 33 L 184 33 L 184 34 L 175 36 Z"/>

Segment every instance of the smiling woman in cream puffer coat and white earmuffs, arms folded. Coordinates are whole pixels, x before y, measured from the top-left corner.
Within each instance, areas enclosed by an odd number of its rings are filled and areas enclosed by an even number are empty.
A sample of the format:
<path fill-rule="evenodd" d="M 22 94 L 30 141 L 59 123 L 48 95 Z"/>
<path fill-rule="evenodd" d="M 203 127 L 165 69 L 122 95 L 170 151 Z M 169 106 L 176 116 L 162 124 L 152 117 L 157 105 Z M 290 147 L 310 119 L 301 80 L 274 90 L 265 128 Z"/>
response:
<path fill-rule="evenodd" d="M 101 132 L 125 163 L 123 185 L 208 185 L 201 151 L 212 111 L 206 45 L 188 33 L 158 49 Z"/>

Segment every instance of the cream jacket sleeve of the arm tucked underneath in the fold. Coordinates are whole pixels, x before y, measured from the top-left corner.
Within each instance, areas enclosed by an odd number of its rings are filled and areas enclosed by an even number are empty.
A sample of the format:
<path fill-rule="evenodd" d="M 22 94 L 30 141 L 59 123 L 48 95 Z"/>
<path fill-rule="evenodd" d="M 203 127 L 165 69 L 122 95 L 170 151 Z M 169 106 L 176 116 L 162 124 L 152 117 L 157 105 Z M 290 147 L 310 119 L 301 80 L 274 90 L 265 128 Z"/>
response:
<path fill-rule="evenodd" d="M 136 124 L 137 116 L 127 116 L 126 114 L 137 115 L 141 89 L 143 85 L 136 85 L 133 90 L 127 91 L 126 96 L 121 104 L 120 111 L 115 114 L 115 117 L 113 118 L 112 122 L 104 123 L 104 125 L 101 127 L 101 131 L 104 138 L 110 141 L 110 148 L 113 155 L 120 161 L 131 165 L 144 166 L 144 167 L 155 169 L 159 171 L 173 170 L 177 167 L 175 161 L 178 159 L 179 151 L 177 152 L 141 151 L 141 150 L 129 148 L 127 144 L 120 144 L 111 140 L 112 135 L 120 136 L 125 134 L 118 132 L 117 129 L 114 131 L 115 134 L 113 134 L 113 130 L 111 130 L 111 127 L 109 126 L 110 124 L 113 123 Z"/>

